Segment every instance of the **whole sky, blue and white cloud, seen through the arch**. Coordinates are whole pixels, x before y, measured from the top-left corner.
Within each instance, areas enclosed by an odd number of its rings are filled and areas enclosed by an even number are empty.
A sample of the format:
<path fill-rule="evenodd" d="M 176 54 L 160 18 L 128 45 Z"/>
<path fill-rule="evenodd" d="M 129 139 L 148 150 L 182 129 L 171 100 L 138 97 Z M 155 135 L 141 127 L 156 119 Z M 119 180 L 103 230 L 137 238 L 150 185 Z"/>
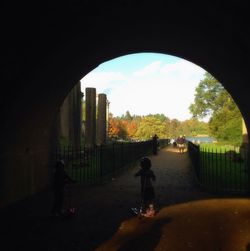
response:
<path fill-rule="evenodd" d="M 96 88 L 110 102 L 109 112 L 121 116 L 163 113 L 184 121 L 192 115 L 195 88 L 205 70 L 178 57 L 136 53 L 100 64 L 81 79 L 81 90 Z"/>

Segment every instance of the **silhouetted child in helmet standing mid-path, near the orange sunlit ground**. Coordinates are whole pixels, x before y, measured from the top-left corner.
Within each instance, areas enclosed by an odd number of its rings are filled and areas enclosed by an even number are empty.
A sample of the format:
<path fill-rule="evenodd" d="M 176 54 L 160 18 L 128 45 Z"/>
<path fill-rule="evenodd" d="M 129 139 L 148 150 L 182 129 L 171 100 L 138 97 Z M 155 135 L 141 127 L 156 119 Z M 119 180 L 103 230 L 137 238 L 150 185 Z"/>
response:
<path fill-rule="evenodd" d="M 135 177 L 141 176 L 141 209 L 147 208 L 153 204 L 155 199 L 155 191 L 151 180 L 155 181 L 155 174 L 150 169 L 151 160 L 143 157 L 140 162 L 141 169 L 135 174 Z"/>

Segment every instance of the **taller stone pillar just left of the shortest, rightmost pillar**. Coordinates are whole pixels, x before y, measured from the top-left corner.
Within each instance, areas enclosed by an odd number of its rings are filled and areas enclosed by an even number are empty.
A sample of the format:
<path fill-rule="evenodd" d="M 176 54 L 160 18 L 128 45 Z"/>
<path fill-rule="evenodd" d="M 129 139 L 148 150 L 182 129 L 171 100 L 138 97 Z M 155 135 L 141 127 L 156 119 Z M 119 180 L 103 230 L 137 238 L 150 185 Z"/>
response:
<path fill-rule="evenodd" d="M 93 147 L 96 143 L 96 89 L 87 87 L 85 145 Z"/>

